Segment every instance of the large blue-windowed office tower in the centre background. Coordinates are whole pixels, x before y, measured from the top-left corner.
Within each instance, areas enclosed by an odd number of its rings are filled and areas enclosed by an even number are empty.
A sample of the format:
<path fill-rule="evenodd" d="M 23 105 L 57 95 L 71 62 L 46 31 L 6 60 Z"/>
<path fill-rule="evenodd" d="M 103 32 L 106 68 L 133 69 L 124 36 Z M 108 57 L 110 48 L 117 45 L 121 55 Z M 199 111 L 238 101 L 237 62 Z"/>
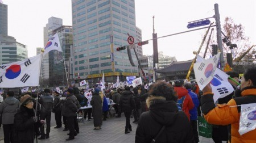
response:
<path fill-rule="evenodd" d="M 131 66 L 127 49 L 116 50 L 129 45 L 129 36 L 138 42 L 134 0 L 73 0 L 72 20 L 75 79 L 84 77 L 96 83 L 103 72 L 105 82 L 115 82 L 117 75 L 121 81 L 126 76 L 138 76 L 134 51 L 131 58 L 135 66 Z"/>

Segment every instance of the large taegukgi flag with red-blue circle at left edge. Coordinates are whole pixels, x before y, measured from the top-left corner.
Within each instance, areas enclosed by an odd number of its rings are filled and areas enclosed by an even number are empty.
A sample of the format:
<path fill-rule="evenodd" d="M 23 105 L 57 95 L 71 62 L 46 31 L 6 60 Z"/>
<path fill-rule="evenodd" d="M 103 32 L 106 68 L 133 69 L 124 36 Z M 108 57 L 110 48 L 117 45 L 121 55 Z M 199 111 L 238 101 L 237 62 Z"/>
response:
<path fill-rule="evenodd" d="M 0 87 L 39 86 L 42 55 L 0 66 Z"/>

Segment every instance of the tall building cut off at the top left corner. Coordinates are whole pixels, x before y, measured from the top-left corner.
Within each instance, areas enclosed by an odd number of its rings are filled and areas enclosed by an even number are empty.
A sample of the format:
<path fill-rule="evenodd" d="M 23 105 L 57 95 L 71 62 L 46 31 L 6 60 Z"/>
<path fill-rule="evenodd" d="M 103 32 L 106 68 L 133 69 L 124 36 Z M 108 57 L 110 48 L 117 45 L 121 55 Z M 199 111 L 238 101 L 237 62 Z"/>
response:
<path fill-rule="evenodd" d="M 0 2 L 0 34 L 8 35 L 8 6 Z"/>

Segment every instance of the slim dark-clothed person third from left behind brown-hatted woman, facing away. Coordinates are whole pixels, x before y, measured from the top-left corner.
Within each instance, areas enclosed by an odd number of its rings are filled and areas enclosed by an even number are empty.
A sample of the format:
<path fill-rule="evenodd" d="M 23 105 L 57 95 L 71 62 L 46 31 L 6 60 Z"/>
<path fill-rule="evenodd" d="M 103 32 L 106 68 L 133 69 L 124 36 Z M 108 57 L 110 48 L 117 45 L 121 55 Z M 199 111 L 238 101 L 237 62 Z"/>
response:
<path fill-rule="evenodd" d="M 60 93 L 56 90 L 53 92 L 55 94 L 54 101 L 53 101 L 53 108 L 52 112 L 55 114 L 55 121 L 56 121 L 56 128 L 61 128 L 61 103 L 60 103 Z"/>

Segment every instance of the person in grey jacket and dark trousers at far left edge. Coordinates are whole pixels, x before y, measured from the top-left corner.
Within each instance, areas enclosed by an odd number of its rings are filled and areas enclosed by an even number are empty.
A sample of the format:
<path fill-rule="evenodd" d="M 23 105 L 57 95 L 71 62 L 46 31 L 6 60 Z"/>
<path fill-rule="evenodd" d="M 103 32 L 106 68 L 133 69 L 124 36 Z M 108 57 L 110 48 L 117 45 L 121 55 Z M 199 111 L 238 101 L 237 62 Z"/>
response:
<path fill-rule="evenodd" d="M 0 104 L 0 114 L 2 115 L 3 136 L 5 142 L 13 142 L 14 115 L 19 108 L 19 100 L 14 98 L 14 91 L 8 91 L 6 99 Z"/>

